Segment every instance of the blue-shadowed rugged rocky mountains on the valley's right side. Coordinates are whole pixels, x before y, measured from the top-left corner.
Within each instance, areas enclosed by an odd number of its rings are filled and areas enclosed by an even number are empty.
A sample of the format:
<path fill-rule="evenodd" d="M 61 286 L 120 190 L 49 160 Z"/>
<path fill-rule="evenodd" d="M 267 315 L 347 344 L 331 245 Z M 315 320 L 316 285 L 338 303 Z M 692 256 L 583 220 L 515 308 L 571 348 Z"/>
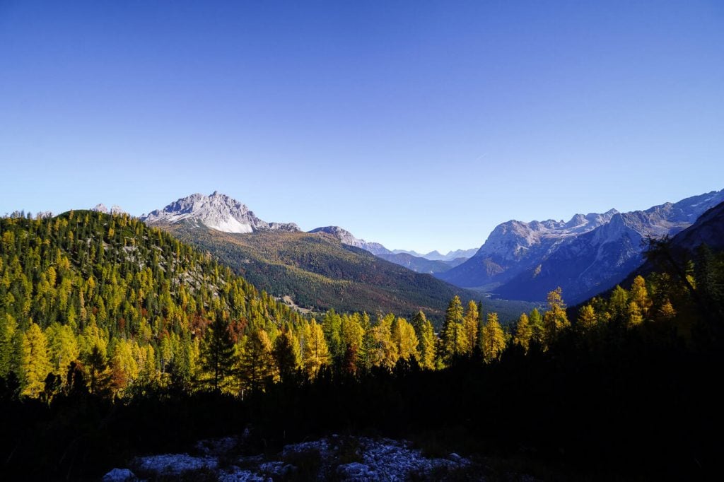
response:
<path fill-rule="evenodd" d="M 576 214 L 568 221 L 508 221 L 476 255 L 440 279 L 501 297 L 542 300 L 560 286 L 569 303 L 614 286 L 643 261 L 644 240 L 681 232 L 724 201 L 724 190 L 646 211 Z"/>

